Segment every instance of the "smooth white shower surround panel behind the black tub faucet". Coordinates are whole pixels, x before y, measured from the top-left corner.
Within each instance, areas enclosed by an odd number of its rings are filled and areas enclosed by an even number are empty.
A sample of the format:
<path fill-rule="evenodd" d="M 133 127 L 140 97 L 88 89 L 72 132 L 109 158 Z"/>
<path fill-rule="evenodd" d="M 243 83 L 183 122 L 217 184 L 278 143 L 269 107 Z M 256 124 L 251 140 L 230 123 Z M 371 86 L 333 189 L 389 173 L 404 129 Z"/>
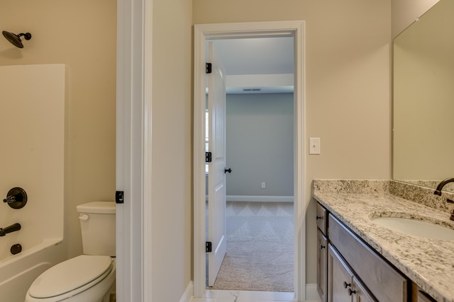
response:
<path fill-rule="evenodd" d="M 0 66 L 0 194 L 21 187 L 28 197 L 21 209 L 2 202 L 0 227 L 21 223 L 21 231 L 0 240 L 0 259 L 12 243 L 63 239 L 65 79 L 62 64 Z"/>

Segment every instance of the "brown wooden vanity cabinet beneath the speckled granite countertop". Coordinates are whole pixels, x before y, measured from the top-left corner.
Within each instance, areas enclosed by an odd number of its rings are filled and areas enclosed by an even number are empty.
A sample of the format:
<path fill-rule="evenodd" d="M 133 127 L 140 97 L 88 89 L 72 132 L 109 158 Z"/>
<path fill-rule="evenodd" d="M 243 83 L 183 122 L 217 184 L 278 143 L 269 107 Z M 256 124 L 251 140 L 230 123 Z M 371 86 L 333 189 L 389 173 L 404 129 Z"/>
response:
<path fill-rule="evenodd" d="M 411 301 L 409 280 L 321 204 L 317 226 L 317 288 L 322 301 Z"/>

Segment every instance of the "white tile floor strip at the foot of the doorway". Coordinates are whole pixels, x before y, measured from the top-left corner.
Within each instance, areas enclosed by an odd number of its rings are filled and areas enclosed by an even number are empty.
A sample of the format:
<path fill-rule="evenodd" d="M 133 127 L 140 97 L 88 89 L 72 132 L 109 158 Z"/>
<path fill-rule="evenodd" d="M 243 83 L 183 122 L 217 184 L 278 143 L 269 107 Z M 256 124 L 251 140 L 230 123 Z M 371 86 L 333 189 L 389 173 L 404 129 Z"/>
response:
<path fill-rule="evenodd" d="M 294 302 L 293 293 L 272 291 L 221 291 L 207 290 L 203 298 L 191 302 Z M 309 301 L 308 301 L 309 302 Z"/>

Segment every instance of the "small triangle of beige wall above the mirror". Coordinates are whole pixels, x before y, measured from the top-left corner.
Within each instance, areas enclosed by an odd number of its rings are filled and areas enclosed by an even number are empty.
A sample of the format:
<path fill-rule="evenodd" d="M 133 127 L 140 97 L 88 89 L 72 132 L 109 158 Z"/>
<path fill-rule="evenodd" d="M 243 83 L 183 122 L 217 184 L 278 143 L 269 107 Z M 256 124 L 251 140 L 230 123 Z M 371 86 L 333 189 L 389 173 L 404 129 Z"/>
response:
<path fill-rule="evenodd" d="M 439 0 L 392 0 L 392 37 L 407 28 Z"/>

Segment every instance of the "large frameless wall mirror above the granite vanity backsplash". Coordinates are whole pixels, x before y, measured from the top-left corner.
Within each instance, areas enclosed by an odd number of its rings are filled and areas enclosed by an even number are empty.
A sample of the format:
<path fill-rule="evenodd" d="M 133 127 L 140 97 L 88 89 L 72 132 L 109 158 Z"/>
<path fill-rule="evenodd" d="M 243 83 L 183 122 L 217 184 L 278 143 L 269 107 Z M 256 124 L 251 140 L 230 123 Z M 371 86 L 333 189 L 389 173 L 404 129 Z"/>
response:
<path fill-rule="evenodd" d="M 438 1 L 394 39 L 394 180 L 434 188 L 454 177 L 453 16 L 454 1 Z"/>

